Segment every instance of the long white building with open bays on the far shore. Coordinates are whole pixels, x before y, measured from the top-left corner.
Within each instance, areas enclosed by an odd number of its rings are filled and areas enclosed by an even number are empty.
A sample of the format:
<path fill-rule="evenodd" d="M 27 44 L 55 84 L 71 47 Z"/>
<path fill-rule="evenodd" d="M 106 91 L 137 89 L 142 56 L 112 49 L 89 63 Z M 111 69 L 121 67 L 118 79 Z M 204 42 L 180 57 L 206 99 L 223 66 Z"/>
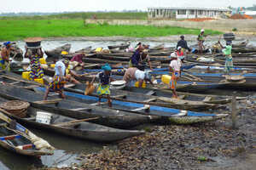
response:
<path fill-rule="evenodd" d="M 220 8 L 148 8 L 148 19 L 219 18 L 230 9 Z"/>

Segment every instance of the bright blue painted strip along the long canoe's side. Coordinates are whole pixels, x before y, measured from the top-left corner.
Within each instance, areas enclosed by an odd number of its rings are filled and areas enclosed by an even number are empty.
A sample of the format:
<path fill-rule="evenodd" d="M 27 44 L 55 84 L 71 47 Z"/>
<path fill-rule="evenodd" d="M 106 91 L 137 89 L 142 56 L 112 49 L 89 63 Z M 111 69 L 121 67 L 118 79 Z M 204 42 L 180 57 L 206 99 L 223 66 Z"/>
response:
<path fill-rule="evenodd" d="M 37 88 L 39 91 L 45 92 L 46 88 Z M 94 100 L 98 101 L 98 97 L 95 96 L 88 96 L 88 95 L 83 95 L 83 94 L 74 94 L 71 92 L 64 92 L 65 95 L 67 96 L 72 96 L 75 98 L 79 99 L 89 99 L 89 100 Z M 107 99 L 102 99 L 103 102 L 107 101 Z M 141 108 L 144 105 L 143 104 L 137 104 L 137 103 L 132 103 L 132 102 L 126 102 L 126 101 L 120 101 L 120 100 L 112 100 L 114 105 L 124 105 L 127 107 L 136 107 L 136 108 Z M 167 108 L 167 107 L 161 107 L 161 106 L 156 106 L 156 105 L 150 105 L 150 110 L 151 111 L 162 111 L 166 112 L 172 115 L 176 115 L 181 112 L 181 110 L 177 109 L 172 109 L 172 108 Z M 195 111 L 188 111 L 188 116 L 216 116 L 216 114 L 207 114 L 207 113 L 201 113 L 201 112 L 195 112 Z"/>

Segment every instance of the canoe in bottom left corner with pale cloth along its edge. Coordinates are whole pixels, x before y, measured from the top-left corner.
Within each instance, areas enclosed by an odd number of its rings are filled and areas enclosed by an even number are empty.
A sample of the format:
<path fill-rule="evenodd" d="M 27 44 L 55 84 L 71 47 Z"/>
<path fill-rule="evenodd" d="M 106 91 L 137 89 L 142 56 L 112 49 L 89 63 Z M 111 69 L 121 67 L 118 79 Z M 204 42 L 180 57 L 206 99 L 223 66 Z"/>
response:
<path fill-rule="evenodd" d="M 53 155 L 55 148 L 0 111 L 0 145 L 24 156 Z"/>

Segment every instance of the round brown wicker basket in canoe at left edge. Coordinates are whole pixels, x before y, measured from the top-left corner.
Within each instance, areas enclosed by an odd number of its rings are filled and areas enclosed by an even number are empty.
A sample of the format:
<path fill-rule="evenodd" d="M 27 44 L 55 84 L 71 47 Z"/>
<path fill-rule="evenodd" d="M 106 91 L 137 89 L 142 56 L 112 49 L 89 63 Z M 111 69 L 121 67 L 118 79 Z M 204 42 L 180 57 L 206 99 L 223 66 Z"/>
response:
<path fill-rule="evenodd" d="M 29 103 L 20 100 L 11 100 L 0 105 L 3 110 L 8 111 L 14 116 L 19 116 L 20 118 L 26 117 L 27 108 L 29 106 Z"/>

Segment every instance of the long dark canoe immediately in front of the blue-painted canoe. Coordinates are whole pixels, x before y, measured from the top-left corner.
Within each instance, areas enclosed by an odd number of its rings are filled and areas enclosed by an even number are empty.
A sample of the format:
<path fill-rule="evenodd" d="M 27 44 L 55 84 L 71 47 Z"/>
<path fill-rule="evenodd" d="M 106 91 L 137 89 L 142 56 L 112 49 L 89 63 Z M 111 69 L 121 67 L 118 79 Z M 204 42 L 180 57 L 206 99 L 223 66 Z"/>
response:
<path fill-rule="evenodd" d="M 87 105 L 73 100 L 51 100 L 54 96 L 49 96 L 48 102 L 44 103 L 42 99 L 44 94 L 36 94 L 31 90 L 17 88 L 13 85 L 2 85 L 0 96 L 5 99 L 16 99 L 29 102 L 32 107 L 43 111 L 53 112 L 62 116 L 69 116 L 76 119 L 84 119 L 99 116 L 99 119 L 92 120 L 109 127 L 131 128 L 142 123 L 154 122 L 159 120 L 159 116 L 143 116 L 127 111 L 114 111 L 108 108 L 99 108 L 95 105 Z"/>

